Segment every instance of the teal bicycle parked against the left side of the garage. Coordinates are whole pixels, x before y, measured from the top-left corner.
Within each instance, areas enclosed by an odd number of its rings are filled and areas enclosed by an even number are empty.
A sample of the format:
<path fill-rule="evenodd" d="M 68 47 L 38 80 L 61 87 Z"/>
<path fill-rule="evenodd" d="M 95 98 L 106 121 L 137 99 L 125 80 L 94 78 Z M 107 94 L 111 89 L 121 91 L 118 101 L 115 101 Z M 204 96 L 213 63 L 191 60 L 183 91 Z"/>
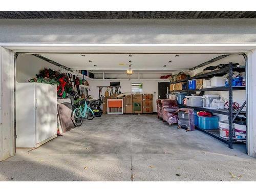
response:
<path fill-rule="evenodd" d="M 72 113 L 72 121 L 76 126 L 81 126 L 83 118 L 92 120 L 94 118 L 93 110 L 88 106 L 89 103 L 84 99 L 84 106 L 81 106 L 79 102 L 79 108 L 74 109 Z"/>

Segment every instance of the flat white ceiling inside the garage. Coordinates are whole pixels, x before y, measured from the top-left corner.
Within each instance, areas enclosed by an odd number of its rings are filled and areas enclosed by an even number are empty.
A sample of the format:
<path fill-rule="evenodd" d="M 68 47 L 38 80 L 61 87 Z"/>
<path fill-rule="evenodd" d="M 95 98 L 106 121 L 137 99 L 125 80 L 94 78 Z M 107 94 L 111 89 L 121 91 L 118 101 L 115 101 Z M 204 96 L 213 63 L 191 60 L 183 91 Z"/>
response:
<path fill-rule="evenodd" d="M 138 71 L 175 71 L 198 66 L 221 54 L 178 54 L 179 56 L 176 56 L 177 54 L 132 54 L 132 56 L 129 54 L 83 54 L 82 56 L 82 54 L 73 53 L 46 53 L 40 55 L 77 70 L 119 71 L 128 69 L 131 63 L 131 68 Z M 172 62 L 168 62 L 170 60 Z M 123 65 L 119 65 L 120 63 Z M 166 67 L 163 67 L 164 65 Z"/>

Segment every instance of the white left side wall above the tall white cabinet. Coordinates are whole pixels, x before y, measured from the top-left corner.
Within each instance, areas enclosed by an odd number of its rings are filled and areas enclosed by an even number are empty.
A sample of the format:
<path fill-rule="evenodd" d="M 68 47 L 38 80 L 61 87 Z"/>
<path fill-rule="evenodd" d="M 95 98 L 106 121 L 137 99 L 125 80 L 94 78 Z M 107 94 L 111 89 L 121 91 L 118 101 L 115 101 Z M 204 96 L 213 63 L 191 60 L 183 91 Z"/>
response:
<path fill-rule="evenodd" d="M 34 55 L 21 54 L 17 57 L 16 65 L 16 81 L 17 82 L 28 82 L 35 75 L 39 73 L 40 69 L 51 68 L 53 70 L 61 70 L 65 72 L 62 68 L 51 64 L 45 60 L 42 60 Z"/>

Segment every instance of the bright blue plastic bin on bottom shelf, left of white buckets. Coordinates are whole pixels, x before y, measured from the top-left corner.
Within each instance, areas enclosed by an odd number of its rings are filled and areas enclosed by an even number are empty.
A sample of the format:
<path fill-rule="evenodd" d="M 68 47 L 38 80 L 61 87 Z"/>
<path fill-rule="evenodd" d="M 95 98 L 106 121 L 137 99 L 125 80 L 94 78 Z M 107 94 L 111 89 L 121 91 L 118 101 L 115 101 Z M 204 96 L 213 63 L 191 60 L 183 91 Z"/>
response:
<path fill-rule="evenodd" d="M 212 116 L 212 117 L 198 117 L 198 126 L 201 129 L 204 130 L 217 130 L 218 129 L 218 122 L 219 117 L 218 116 Z"/>

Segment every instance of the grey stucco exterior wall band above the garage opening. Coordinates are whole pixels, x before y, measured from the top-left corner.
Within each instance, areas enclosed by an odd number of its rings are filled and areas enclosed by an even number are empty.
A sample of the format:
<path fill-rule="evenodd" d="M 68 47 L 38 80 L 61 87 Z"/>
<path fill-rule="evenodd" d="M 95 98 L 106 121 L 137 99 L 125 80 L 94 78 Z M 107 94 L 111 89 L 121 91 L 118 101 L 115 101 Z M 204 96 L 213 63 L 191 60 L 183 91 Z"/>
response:
<path fill-rule="evenodd" d="M 255 19 L 0 19 L 1 42 L 255 43 Z"/>

